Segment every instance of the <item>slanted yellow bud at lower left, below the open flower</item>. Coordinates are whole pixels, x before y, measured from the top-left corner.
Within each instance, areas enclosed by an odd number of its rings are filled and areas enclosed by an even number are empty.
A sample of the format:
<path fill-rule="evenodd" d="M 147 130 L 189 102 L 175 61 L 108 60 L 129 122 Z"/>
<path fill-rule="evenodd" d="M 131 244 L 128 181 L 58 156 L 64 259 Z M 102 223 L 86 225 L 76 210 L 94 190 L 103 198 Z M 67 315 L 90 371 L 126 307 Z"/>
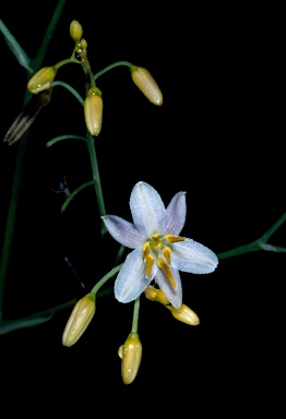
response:
<path fill-rule="evenodd" d="M 90 292 L 74 306 L 62 335 L 62 345 L 72 346 L 85 332 L 95 313 L 95 295 Z"/>

